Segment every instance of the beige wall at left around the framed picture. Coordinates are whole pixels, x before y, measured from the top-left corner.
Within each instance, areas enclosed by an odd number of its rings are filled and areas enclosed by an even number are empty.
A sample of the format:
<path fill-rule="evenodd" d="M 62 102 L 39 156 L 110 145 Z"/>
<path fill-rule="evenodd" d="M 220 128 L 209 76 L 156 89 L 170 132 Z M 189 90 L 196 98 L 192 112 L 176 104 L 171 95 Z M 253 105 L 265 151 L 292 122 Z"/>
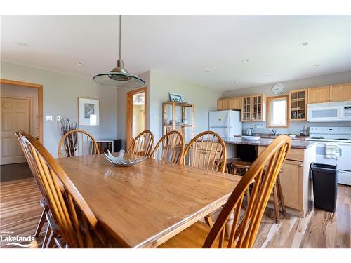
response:
<path fill-rule="evenodd" d="M 100 126 L 81 126 L 96 139 L 117 137 L 117 88 L 101 86 L 91 79 L 1 61 L 1 78 L 43 85 L 44 146 L 57 156 L 60 126 L 56 116 L 78 121 L 78 97 L 100 100 Z M 53 116 L 46 121 L 45 116 Z"/>

